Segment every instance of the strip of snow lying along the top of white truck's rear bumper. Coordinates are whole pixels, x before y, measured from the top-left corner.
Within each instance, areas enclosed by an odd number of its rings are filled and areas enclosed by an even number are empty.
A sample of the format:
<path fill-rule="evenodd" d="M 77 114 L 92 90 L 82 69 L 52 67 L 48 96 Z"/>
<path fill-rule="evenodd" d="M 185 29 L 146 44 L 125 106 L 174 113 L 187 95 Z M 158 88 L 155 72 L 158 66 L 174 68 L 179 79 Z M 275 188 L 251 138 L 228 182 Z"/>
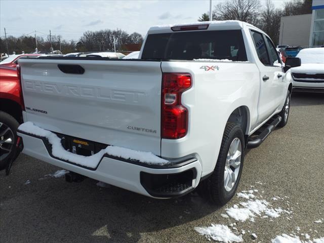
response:
<path fill-rule="evenodd" d="M 52 154 L 55 157 L 90 168 L 96 168 L 105 153 L 115 157 L 138 160 L 146 164 L 165 165 L 170 163 L 170 161 L 160 158 L 151 152 L 136 151 L 117 146 L 107 146 L 105 149 L 102 149 L 91 156 L 78 155 L 66 151 L 61 145 L 61 139 L 56 134 L 35 126 L 31 121 L 21 124 L 18 130 L 47 138 L 49 143 L 52 145 Z"/>

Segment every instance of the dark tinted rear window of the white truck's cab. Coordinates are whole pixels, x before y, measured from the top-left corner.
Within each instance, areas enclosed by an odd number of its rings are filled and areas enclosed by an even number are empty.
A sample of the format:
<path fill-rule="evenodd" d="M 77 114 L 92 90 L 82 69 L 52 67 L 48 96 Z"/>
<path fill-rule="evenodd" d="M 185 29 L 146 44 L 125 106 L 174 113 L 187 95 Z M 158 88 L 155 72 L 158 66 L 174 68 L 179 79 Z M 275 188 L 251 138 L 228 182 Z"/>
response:
<path fill-rule="evenodd" d="M 149 34 L 142 59 L 228 59 L 247 61 L 241 30 Z"/>

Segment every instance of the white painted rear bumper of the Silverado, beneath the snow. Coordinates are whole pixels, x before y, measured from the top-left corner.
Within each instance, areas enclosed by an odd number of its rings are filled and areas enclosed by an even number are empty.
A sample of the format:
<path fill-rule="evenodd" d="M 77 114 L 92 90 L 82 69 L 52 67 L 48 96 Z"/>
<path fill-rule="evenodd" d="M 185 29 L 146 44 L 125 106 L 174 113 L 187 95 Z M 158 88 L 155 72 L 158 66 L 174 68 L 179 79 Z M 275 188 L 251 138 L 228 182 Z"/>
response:
<path fill-rule="evenodd" d="M 29 125 L 28 125 L 29 126 Z M 61 167 L 65 170 L 72 171 L 89 178 L 102 181 L 120 188 L 124 188 L 133 192 L 137 192 L 146 196 L 151 197 L 169 197 L 169 196 L 159 196 L 153 195 L 149 193 L 146 188 L 141 183 L 141 173 L 148 173 L 151 175 L 170 175 L 170 174 L 181 174 L 182 172 L 186 172 L 188 170 L 195 170 L 195 178 L 192 180 L 192 188 L 196 187 L 199 183 L 200 176 L 201 176 L 201 165 L 198 160 L 194 159 L 191 160 L 190 163 L 180 164 L 179 167 L 168 167 L 168 163 L 165 165 L 161 165 L 160 168 L 152 167 L 150 168 L 150 164 L 143 163 L 143 165 L 133 164 L 129 161 L 123 159 L 121 156 L 120 158 L 109 157 L 109 156 L 102 156 L 98 160 L 98 165 L 95 166 L 95 169 L 85 168 L 82 165 L 76 165 L 75 163 L 68 163 L 68 161 L 64 161 L 62 159 L 53 157 L 48 151 L 43 139 L 41 137 L 46 137 L 36 135 L 36 134 L 27 134 L 26 131 L 23 131 L 24 127 L 19 127 L 18 129 L 18 136 L 22 137 L 24 142 L 24 149 L 23 153 L 30 155 L 32 157 L 41 159 L 46 161 L 49 164 L 54 166 Z M 44 130 L 44 129 L 42 129 Z M 46 130 L 44 130 L 46 131 Z M 49 131 L 46 131 L 49 132 Z M 50 132 L 51 133 L 51 132 Z M 53 134 L 53 133 L 52 133 Z M 113 146 L 108 146 L 113 147 Z M 63 148 L 62 148 L 63 149 Z M 70 153 L 66 150 L 65 152 L 69 153 L 68 155 L 72 154 L 75 156 L 87 157 L 82 155 L 76 155 Z M 134 151 L 134 150 L 132 150 Z M 105 151 L 106 152 L 106 151 Z M 137 151 L 139 152 L 139 151 Z M 145 152 L 144 152 L 145 153 Z M 98 153 L 96 153 L 98 154 Z M 95 155 L 96 155 L 95 154 Z M 153 155 L 153 154 L 152 154 Z M 129 155 L 127 155 L 129 157 Z M 155 156 L 155 155 L 154 155 Z M 91 156 L 88 156 L 91 157 Z M 157 157 L 157 156 L 156 156 Z M 78 157 L 74 157 L 76 159 Z M 130 157 L 129 157 L 130 158 Z M 159 157 L 157 157 L 159 158 Z M 161 159 L 161 158 L 160 158 Z M 165 160 L 168 161 L 168 160 Z M 86 163 L 86 161 L 84 161 Z M 146 166 L 144 166 L 146 165 Z M 181 193 L 180 193 L 181 194 Z M 179 194 L 179 195 L 180 195 Z M 172 197 L 172 196 L 170 196 Z"/>

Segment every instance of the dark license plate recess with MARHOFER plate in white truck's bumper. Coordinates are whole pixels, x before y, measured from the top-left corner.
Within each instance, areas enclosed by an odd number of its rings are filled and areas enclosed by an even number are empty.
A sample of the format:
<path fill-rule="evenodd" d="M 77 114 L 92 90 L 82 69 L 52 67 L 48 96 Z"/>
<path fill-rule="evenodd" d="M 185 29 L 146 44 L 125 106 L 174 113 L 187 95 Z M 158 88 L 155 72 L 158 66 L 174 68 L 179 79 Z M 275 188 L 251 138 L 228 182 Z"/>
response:
<path fill-rule="evenodd" d="M 82 138 L 71 137 L 63 134 L 56 135 L 61 139 L 61 144 L 65 150 L 79 155 L 91 156 L 107 147 L 106 144 Z"/>

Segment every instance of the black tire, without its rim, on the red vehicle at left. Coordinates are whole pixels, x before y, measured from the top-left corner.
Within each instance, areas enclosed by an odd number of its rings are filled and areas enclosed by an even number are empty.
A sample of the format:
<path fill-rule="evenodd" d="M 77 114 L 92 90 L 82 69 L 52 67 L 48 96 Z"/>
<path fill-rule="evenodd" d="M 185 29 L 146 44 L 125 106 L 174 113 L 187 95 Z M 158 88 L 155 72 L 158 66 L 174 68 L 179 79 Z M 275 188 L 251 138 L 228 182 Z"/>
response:
<path fill-rule="evenodd" d="M 8 114 L 4 111 L 0 111 L 0 125 L 2 125 L 2 124 L 7 126 L 8 128 L 10 128 L 11 131 L 13 132 L 13 137 L 14 137 L 13 142 L 14 143 L 13 143 L 13 146 L 11 147 L 11 151 L 8 154 L 5 153 L 4 150 L 2 150 L 0 148 L 0 170 L 3 170 L 6 168 L 7 164 L 9 163 L 9 161 L 12 157 L 16 158 L 18 156 L 17 149 L 16 149 L 16 142 L 17 142 L 17 129 L 19 127 L 19 123 L 10 114 Z M 5 129 L 4 129 L 5 126 L 0 127 L 0 142 L 2 141 L 2 136 L 5 131 Z M 6 148 L 8 148 L 7 145 L 6 145 Z M 2 155 L 5 156 L 3 159 L 1 159 Z"/>

